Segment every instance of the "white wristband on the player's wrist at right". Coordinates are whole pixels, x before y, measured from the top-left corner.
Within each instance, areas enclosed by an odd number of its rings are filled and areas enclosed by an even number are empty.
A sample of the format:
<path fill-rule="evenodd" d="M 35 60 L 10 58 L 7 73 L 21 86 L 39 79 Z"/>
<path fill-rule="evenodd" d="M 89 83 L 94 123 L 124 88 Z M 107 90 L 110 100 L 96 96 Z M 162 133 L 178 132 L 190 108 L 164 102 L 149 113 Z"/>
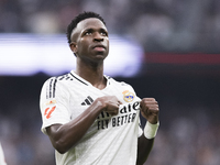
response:
<path fill-rule="evenodd" d="M 155 138 L 158 130 L 158 122 L 156 124 L 152 124 L 147 121 L 144 128 L 144 136 L 148 140 Z"/>

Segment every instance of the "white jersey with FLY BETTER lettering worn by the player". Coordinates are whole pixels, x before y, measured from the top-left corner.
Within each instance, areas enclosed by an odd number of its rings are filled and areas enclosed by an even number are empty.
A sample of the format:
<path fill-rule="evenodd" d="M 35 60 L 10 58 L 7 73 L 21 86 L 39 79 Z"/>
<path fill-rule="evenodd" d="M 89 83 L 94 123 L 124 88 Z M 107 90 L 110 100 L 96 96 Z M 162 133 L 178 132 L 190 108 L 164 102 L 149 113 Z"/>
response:
<path fill-rule="evenodd" d="M 41 92 L 42 131 L 65 124 L 82 113 L 98 97 L 116 96 L 123 105 L 118 116 L 101 112 L 87 133 L 65 154 L 56 151 L 57 165 L 135 165 L 140 128 L 140 98 L 125 82 L 107 77 L 102 90 L 74 72 L 45 81 Z"/>

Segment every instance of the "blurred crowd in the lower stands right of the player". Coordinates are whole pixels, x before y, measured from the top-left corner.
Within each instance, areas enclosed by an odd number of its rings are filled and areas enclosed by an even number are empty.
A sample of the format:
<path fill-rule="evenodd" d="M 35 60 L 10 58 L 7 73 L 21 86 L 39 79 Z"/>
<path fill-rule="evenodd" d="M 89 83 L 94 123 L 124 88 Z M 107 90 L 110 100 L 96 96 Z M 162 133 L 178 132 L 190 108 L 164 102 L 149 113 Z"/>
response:
<path fill-rule="evenodd" d="M 176 107 L 178 111 L 184 110 Z M 177 110 L 176 109 L 176 110 Z M 219 165 L 220 123 L 209 110 L 188 109 L 194 117 L 178 117 L 161 129 L 145 165 Z M 163 127 L 162 127 L 163 128 Z"/>

